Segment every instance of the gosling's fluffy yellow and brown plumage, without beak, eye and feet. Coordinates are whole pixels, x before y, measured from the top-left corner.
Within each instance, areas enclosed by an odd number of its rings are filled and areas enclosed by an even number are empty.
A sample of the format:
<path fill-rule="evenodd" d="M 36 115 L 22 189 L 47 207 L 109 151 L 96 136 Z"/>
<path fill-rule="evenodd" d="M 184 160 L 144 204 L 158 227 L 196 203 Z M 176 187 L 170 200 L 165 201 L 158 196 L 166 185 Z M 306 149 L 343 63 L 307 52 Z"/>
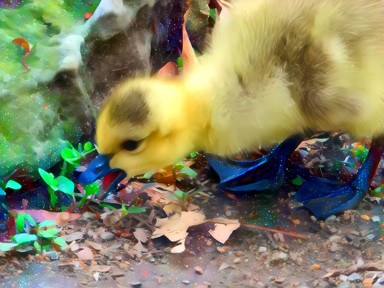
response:
<path fill-rule="evenodd" d="M 381 0 L 235 2 L 189 72 L 113 90 L 98 150 L 133 176 L 192 150 L 230 155 L 306 129 L 382 136 L 383 12 Z"/>

